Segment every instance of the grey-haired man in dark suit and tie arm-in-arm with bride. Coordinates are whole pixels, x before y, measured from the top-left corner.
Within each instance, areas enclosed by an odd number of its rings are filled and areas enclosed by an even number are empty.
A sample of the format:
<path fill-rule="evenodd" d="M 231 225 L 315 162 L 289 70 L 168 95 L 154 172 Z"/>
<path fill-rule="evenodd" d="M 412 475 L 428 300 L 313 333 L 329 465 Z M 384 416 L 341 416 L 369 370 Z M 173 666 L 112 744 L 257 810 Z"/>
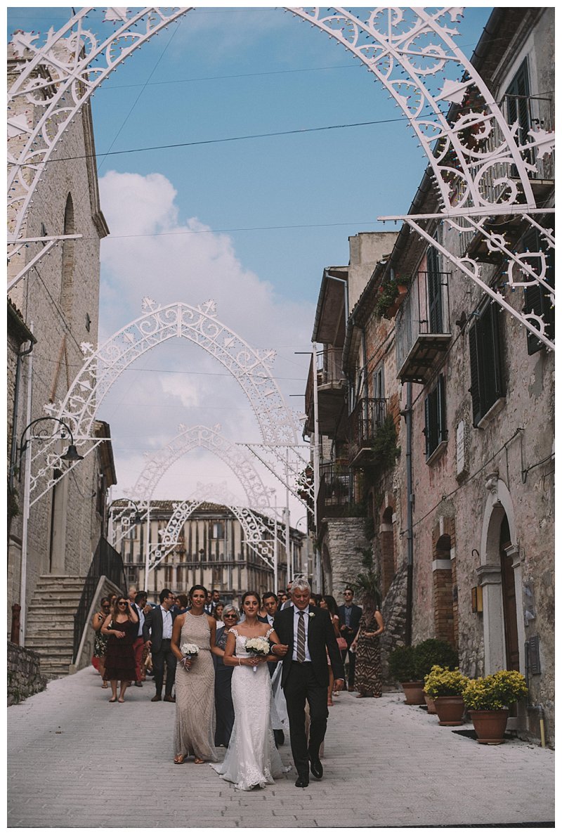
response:
<path fill-rule="evenodd" d="M 343 664 L 337 649 L 336 634 L 326 609 L 311 606 L 311 587 L 306 579 L 296 579 L 292 585 L 293 605 L 277 612 L 274 620 L 280 644 L 271 648 L 283 658 L 281 686 L 285 694 L 291 751 L 298 778 L 295 785 L 306 788 L 310 771 L 317 780 L 324 773 L 320 762 L 320 746 L 326 735 L 329 684 L 326 650 L 332 662 L 334 690 L 343 686 Z M 310 708 L 310 738 L 306 743 L 305 703 Z"/>

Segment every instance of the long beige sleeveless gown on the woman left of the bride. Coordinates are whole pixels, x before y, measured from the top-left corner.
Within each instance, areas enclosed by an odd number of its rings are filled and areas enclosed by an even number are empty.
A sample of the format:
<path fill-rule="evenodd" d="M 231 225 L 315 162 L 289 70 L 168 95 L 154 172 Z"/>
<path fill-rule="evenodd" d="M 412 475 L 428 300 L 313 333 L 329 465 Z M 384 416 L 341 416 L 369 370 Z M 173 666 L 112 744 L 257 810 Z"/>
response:
<path fill-rule="evenodd" d="M 182 644 L 195 644 L 199 652 L 191 669 L 175 668 L 174 754 L 193 754 L 217 762 L 215 749 L 215 667 L 210 654 L 210 625 L 207 615 L 185 613 L 181 627 Z"/>

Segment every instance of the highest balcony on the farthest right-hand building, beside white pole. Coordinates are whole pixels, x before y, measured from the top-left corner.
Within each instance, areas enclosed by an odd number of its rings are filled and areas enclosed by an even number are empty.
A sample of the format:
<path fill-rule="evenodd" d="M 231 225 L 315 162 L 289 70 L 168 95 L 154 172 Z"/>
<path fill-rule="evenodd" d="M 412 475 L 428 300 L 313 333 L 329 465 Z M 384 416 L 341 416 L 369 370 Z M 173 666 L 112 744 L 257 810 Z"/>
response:
<path fill-rule="evenodd" d="M 318 369 L 318 430 L 327 438 L 342 438 L 345 420 L 344 397 L 347 390 L 342 372 L 342 348 L 327 348 L 316 353 Z M 305 392 L 306 433 L 314 433 L 314 369 L 313 358 L 308 371 Z"/>

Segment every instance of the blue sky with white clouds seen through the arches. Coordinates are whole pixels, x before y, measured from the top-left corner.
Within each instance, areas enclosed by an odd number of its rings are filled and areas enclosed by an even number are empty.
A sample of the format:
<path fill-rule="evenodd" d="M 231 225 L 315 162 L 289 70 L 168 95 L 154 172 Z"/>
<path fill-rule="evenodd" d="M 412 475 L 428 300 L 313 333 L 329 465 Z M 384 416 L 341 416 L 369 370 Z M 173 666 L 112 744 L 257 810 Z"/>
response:
<path fill-rule="evenodd" d="M 465 8 L 457 24 L 468 57 L 490 12 Z M 69 13 L 10 8 L 8 37 L 15 28 L 59 28 Z M 101 11 L 89 19 L 94 30 L 108 27 Z M 382 229 L 377 215 L 406 213 L 425 168 L 407 123 L 371 73 L 279 8 L 201 7 L 112 74 L 93 113 L 112 232 L 102 243 L 100 337 L 139 316 L 145 292 L 190 304 L 210 293 L 240 336 L 276 348 L 286 396 L 304 392 L 307 360 L 295 352 L 310 349 L 323 267 L 347 264 L 348 235 Z M 380 124 L 209 141 L 372 121 Z M 207 144 L 139 150 L 198 142 Z M 143 272 L 144 264 L 152 266 Z M 152 381 L 144 392 L 139 372 Z M 183 346 L 124 373 L 100 415 L 112 426 L 118 489 L 132 485 L 142 451 L 173 437 L 178 422 L 218 419 L 229 437 L 257 440 L 246 402 L 216 372 L 209 357 Z M 149 388 L 159 397 L 149 397 Z M 143 415 L 134 431 L 131 404 Z M 291 398 L 291 406 L 302 405 Z M 205 455 L 193 462 L 190 483 L 212 471 L 234 488 L 231 474 Z M 189 493 L 185 467 L 169 476 L 163 495 Z"/>

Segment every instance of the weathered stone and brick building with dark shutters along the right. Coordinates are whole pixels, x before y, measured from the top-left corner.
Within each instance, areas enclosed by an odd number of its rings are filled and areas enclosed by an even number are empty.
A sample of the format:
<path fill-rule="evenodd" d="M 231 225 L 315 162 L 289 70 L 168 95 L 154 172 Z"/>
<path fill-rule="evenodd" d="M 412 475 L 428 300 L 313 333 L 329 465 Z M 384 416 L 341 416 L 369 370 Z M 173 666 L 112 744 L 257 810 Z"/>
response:
<path fill-rule="evenodd" d="M 532 124 L 553 128 L 552 8 L 494 9 L 472 62 L 509 124 L 518 122 L 520 143 Z M 530 161 L 537 205 L 554 206 L 551 157 Z M 427 172 L 409 213 L 438 211 Z M 520 217 L 490 229 L 511 251 L 543 251 L 554 284 L 548 245 Z M 554 226 L 553 215 L 534 217 Z M 503 290 L 505 261 L 481 236 L 438 220 L 428 231 Z M 539 311 L 554 335 L 548 292 L 519 287 L 509 301 Z M 340 339 L 347 424 L 337 445 L 347 457 L 338 464 L 367 520 L 387 619 L 383 656 L 397 643 L 437 637 L 458 648 L 469 676 L 521 671 L 529 698 L 510 726 L 538 739 L 544 719 L 552 744 L 553 353 L 407 225 L 374 266 Z"/>

